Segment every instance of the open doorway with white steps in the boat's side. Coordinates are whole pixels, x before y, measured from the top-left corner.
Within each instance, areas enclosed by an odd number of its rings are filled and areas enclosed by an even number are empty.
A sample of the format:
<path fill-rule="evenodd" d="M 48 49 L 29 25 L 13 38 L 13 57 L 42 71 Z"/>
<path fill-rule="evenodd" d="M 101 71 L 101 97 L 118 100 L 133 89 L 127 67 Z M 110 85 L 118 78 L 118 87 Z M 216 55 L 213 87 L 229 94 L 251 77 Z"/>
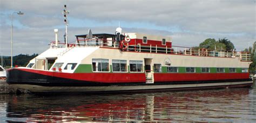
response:
<path fill-rule="evenodd" d="M 146 83 L 154 83 L 152 59 L 144 59 Z"/>

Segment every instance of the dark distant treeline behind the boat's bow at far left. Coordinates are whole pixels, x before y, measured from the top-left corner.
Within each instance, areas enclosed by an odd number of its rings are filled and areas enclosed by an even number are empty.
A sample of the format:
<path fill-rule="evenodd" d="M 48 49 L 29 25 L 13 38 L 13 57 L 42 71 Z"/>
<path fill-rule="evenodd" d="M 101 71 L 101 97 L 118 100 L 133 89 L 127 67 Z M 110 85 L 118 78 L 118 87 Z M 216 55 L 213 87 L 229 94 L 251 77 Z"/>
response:
<path fill-rule="evenodd" d="M 16 55 L 14 57 L 12 57 L 13 59 L 13 64 L 14 66 L 23 66 L 25 67 L 30 60 L 32 60 L 34 57 L 36 57 L 38 54 L 32 54 L 32 55 L 24 55 L 24 54 L 19 54 Z M 4 56 L 3 57 L 3 62 L 5 63 L 6 66 L 11 66 L 11 56 Z M 0 59 L 0 63 L 1 63 L 1 59 Z"/>

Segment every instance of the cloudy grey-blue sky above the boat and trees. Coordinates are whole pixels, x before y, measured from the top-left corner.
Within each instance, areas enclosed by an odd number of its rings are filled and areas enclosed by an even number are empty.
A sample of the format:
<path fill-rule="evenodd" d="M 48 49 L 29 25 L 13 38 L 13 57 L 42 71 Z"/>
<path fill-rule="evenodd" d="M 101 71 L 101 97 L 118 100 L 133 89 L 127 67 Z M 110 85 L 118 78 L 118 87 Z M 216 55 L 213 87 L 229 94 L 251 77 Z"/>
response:
<path fill-rule="evenodd" d="M 237 50 L 256 41 L 256 0 L 0 0 L 0 55 L 10 56 L 11 13 L 14 55 L 42 53 L 55 40 L 64 41 L 64 4 L 68 41 L 75 35 L 138 32 L 172 37 L 174 46 L 198 46 L 207 38 L 227 38 Z"/>

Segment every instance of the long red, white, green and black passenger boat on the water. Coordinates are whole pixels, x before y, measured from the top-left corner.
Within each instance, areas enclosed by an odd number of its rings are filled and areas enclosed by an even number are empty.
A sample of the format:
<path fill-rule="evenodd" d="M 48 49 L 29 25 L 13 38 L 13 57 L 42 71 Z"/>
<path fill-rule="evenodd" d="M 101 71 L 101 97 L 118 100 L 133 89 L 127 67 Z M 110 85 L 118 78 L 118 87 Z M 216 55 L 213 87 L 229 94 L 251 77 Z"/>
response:
<path fill-rule="evenodd" d="M 66 31 L 67 32 L 67 31 Z M 30 92 L 119 92 L 250 87 L 247 52 L 193 49 L 172 38 L 123 33 L 56 40 L 28 66 L 11 68 L 6 82 Z"/>

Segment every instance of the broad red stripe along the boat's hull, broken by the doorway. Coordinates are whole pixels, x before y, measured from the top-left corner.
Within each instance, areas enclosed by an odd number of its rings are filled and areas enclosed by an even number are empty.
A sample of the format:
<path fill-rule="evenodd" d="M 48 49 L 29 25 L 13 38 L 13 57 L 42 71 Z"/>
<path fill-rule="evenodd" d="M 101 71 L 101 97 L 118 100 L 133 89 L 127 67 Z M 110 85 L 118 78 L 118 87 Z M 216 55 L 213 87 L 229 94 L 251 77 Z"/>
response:
<path fill-rule="evenodd" d="M 103 83 L 145 82 L 145 73 L 61 73 L 34 69 L 15 68 L 31 73 Z M 248 79 L 249 73 L 156 73 L 154 82 L 214 81 L 225 79 Z"/>

